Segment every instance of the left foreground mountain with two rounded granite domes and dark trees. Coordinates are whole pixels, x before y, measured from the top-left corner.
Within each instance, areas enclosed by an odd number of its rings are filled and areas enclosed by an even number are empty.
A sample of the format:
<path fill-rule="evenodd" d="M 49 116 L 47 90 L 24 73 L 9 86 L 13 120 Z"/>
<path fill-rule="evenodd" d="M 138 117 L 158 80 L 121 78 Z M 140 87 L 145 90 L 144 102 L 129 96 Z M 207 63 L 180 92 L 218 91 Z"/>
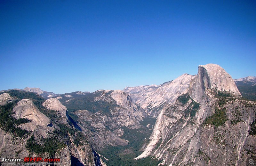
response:
<path fill-rule="evenodd" d="M 55 157 L 60 158 L 62 166 L 104 165 L 84 134 L 75 129 L 66 107 L 57 99 L 45 100 L 36 93 L 22 90 L 1 93 L 1 98 L 8 100 L 0 106 L 1 154 L 19 155 L 20 158 Z M 10 96 L 12 101 L 9 101 Z M 1 164 L 11 163 L 1 161 Z M 46 166 L 47 162 L 37 164 Z"/>

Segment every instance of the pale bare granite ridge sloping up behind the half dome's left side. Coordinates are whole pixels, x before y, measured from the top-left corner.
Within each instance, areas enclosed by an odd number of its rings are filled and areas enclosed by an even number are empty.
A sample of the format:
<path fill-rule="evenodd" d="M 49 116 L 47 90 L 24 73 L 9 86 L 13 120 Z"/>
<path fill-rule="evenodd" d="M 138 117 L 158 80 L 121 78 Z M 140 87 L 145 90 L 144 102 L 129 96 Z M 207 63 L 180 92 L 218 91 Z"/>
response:
<path fill-rule="evenodd" d="M 126 87 L 124 91 L 149 115 L 156 117 L 165 103 L 173 103 L 180 94 L 187 93 L 190 80 L 194 77 L 183 74 L 161 85 Z"/>

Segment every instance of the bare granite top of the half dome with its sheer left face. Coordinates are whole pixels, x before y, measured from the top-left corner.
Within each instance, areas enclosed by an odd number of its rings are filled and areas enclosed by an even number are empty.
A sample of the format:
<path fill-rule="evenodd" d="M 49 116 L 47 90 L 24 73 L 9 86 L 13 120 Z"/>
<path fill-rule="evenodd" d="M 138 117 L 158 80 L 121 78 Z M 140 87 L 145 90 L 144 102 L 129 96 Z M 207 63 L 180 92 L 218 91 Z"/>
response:
<path fill-rule="evenodd" d="M 223 68 L 216 64 L 200 65 L 197 76 L 190 82 L 189 95 L 200 103 L 205 89 L 212 88 L 241 96 L 232 77 Z"/>

